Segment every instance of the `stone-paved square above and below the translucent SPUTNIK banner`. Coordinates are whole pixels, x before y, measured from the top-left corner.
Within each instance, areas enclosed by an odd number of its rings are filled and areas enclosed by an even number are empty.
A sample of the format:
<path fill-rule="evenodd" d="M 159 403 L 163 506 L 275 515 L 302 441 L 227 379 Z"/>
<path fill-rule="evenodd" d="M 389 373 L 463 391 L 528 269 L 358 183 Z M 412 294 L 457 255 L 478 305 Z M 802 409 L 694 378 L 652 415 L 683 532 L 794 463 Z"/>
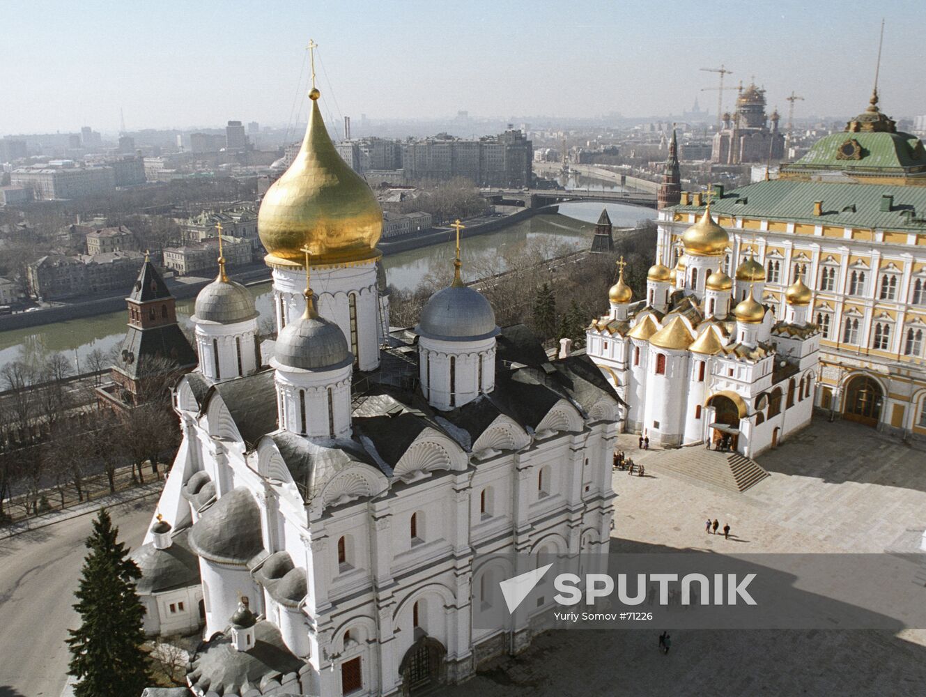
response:
<path fill-rule="evenodd" d="M 720 553 L 915 551 L 926 528 L 926 453 L 870 428 L 816 419 L 757 458 L 771 476 L 736 494 L 660 471 L 659 450 L 619 448 L 646 476 L 615 473 L 612 553 L 650 545 Z M 732 539 L 706 535 L 707 516 Z M 734 537 L 735 536 L 735 537 Z M 926 693 L 926 631 L 558 631 L 441 694 L 840 695 Z"/>

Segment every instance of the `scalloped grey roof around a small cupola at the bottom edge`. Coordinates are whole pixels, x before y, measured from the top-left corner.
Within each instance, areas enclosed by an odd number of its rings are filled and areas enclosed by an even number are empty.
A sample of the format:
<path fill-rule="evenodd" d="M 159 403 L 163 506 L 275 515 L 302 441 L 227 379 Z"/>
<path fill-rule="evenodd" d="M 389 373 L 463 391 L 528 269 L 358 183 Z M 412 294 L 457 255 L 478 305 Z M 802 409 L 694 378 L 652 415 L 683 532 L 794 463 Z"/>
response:
<path fill-rule="evenodd" d="M 187 679 L 196 691 L 245 694 L 259 690 L 267 680 L 297 673 L 304 664 L 283 643 L 280 630 L 263 620 L 254 626 L 254 648 L 236 651 L 232 638 L 219 634 L 207 641 L 191 666 Z M 308 685 L 302 686 L 308 690 Z"/>

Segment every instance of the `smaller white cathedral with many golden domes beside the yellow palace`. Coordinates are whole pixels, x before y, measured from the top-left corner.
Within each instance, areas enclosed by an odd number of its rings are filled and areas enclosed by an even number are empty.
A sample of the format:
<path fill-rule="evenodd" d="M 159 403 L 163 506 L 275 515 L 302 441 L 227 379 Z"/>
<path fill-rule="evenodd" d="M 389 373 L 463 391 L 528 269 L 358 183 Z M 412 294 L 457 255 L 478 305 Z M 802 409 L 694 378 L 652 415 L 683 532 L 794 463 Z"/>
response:
<path fill-rule="evenodd" d="M 762 303 L 765 270 L 752 254 L 735 280 L 724 272 L 730 239 L 710 204 L 690 222 L 674 270 L 664 263 L 672 235 L 660 226 L 646 298 L 633 301 L 621 267 L 607 315 L 586 330 L 586 351 L 627 405 L 621 432 L 753 457 L 810 421 L 820 355 L 810 289 L 798 278 L 776 318 Z"/>

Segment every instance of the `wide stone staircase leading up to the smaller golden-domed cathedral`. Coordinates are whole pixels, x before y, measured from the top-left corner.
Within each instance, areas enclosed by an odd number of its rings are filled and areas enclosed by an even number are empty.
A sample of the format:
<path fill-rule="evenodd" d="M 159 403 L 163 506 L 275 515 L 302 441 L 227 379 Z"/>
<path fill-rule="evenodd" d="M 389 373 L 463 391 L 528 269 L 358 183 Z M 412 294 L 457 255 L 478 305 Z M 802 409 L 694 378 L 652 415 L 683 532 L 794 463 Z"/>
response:
<path fill-rule="evenodd" d="M 657 472 L 668 470 L 728 491 L 745 491 L 770 476 L 759 463 L 738 452 L 717 452 L 698 446 L 663 450 L 658 457 L 647 457 L 644 465 L 647 469 L 652 466 Z"/>

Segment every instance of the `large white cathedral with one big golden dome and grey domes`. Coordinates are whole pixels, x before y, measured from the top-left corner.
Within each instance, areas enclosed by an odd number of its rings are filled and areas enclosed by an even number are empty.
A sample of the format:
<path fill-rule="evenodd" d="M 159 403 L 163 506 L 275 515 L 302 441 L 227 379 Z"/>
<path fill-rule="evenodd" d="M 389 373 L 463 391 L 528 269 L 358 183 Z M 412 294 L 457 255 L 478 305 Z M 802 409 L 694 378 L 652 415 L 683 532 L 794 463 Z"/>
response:
<path fill-rule="evenodd" d="M 204 627 L 197 695 L 457 682 L 526 646 L 552 607 L 546 593 L 474 627 L 473 608 L 527 570 L 484 555 L 608 550 L 620 401 L 606 376 L 496 326 L 458 253 L 419 324 L 391 328 L 381 209 L 310 97 L 258 217 L 277 339 L 258 345 L 254 302 L 220 260 L 195 303 L 199 368 L 174 389 L 181 447 L 134 552 L 146 632 Z"/>

